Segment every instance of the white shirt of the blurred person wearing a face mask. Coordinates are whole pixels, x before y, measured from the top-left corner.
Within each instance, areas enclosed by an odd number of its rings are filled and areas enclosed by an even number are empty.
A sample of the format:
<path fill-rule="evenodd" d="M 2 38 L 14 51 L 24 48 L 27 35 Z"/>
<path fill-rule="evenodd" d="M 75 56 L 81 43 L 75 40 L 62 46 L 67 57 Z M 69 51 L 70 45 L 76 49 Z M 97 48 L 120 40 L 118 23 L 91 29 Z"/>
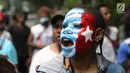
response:
<path fill-rule="evenodd" d="M 31 27 L 31 33 L 34 36 L 34 44 L 37 44 L 36 41 L 40 34 L 42 34 L 40 38 L 44 46 L 47 46 L 53 42 L 52 25 L 45 28 L 42 24 L 36 24 Z"/>

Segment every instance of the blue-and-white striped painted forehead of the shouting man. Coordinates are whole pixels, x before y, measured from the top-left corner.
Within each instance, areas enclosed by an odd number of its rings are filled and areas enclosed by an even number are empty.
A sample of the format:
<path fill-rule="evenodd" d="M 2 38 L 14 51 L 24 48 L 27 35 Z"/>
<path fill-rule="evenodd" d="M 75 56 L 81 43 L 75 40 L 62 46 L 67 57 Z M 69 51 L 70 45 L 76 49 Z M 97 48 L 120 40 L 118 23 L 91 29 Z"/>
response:
<path fill-rule="evenodd" d="M 63 25 L 67 23 L 77 23 L 80 24 L 82 20 L 82 13 L 84 13 L 84 9 L 82 8 L 73 8 L 70 10 L 63 21 Z"/>

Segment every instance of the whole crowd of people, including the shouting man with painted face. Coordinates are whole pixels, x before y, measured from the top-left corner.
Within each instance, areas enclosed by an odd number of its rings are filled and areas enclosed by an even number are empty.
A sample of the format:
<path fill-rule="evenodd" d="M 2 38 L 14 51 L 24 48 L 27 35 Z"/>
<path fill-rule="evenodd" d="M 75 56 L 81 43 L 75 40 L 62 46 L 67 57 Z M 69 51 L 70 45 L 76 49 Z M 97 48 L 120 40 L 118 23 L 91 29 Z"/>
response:
<path fill-rule="evenodd" d="M 77 6 L 66 13 L 42 6 L 31 27 L 23 11 L 8 26 L 0 12 L 0 73 L 129 73 L 129 12 L 130 7 L 122 42 L 105 4 Z"/>

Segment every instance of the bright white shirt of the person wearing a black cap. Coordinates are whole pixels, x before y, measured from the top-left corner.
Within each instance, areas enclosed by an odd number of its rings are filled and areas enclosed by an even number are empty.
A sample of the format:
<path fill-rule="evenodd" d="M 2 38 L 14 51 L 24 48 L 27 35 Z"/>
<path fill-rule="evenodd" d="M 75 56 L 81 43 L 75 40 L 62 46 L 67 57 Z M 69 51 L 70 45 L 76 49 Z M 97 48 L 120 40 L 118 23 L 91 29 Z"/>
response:
<path fill-rule="evenodd" d="M 58 55 L 57 53 L 51 50 L 50 46 L 47 46 L 41 50 L 39 50 L 33 57 L 32 63 L 30 65 L 29 73 L 36 73 L 36 66 L 43 64 L 53 57 Z"/>

